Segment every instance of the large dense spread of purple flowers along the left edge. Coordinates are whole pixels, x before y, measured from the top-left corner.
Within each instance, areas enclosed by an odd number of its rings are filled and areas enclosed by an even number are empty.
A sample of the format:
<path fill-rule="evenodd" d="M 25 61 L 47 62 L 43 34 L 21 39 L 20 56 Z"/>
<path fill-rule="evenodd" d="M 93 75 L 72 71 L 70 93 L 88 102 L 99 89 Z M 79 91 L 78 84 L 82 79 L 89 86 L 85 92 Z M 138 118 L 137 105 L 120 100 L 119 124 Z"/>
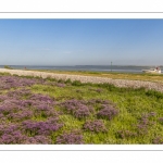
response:
<path fill-rule="evenodd" d="M 40 83 L 43 80 L 0 76 L 0 89 L 5 90 L 0 95 L 1 145 L 52 143 L 51 134 L 63 126 L 54 110 L 57 102 L 49 96 L 26 89 Z"/>

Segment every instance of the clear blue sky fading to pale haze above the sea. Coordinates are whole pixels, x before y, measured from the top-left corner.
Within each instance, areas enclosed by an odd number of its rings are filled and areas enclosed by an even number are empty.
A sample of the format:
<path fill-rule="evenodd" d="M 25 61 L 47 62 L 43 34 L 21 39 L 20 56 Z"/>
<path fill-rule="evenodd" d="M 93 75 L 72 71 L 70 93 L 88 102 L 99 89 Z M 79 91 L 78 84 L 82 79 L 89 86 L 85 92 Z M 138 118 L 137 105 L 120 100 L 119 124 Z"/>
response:
<path fill-rule="evenodd" d="M 163 65 L 163 20 L 0 20 L 0 65 Z"/>

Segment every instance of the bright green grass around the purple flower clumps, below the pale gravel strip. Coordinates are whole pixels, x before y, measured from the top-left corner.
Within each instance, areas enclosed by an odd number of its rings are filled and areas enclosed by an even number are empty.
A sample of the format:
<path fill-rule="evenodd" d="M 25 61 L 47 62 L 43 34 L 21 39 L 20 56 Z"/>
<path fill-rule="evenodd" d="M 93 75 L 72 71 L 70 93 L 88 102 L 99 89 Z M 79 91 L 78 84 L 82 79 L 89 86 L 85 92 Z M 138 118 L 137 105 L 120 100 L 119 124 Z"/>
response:
<path fill-rule="evenodd" d="M 98 89 L 101 92 L 98 92 Z M 163 136 L 163 125 L 159 122 L 159 117 L 163 117 L 163 93 L 154 90 L 145 90 L 143 88 L 117 88 L 108 84 L 80 84 L 78 82 L 66 85 L 61 88 L 58 86 L 35 85 L 32 87 L 34 92 L 49 95 L 54 97 L 58 102 L 68 99 L 90 100 L 102 99 L 114 103 L 118 110 L 118 115 L 111 121 L 103 120 L 108 131 L 106 133 L 91 133 L 83 131 L 85 143 L 152 143 L 156 136 Z M 96 108 L 98 111 L 98 108 Z M 58 110 L 62 110 L 58 106 Z M 142 115 L 155 112 L 155 116 L 149 118 L 152 125 L 148 126 L 148 133 L 140 135 L 137 125 Z M 75 128 L 83 129 L 83 125 L 87 120 L 96 120 L 96 115 L 87 117 L 86 120 L 77 120 L 73 115 L 63 113 L 60 116 L 64 122 L 63 130 L 72 130 Z M 120 138 L 118 130 L 130 130 L 137 133 L 135 137 Z M 59 134 L 61 134 L 60 131 Z M 55 134 L 59 135 L 59 134 Z"/>

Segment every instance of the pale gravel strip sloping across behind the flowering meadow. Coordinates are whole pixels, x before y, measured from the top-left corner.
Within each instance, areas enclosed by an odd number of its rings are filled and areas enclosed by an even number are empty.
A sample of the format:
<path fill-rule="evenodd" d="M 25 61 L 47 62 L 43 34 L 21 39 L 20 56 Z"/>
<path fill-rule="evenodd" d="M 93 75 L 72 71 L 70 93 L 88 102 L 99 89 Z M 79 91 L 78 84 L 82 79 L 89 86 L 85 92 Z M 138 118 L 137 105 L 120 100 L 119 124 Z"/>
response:
<path fill-rule="evenodd" d="M 112 79 L 112 78 L 106 78 L 106 77 L 53 74 L 53 73 L 46 73 L 46 72 L 7 70 L 7 68 L 0 68 L 0 72 L 10 73 L 12 75 L 16 74 L 18 76 L 39 76 L 42 78 L 52 77 L 52 78 L 64 79 L 64 80 L 70 78 L 71 80 L 80 80 L 82 83 L 93 83 L 93 84 L 109 83 L 109 84 L 113 84 L 117 87 L 133 87 L 133 88 L 145 87 L 147 89 L 154 89 L 154 90 L 163 92 L 163 84 L 161 84 L 161 83 L 128 80 L 128 79 Z"/>

